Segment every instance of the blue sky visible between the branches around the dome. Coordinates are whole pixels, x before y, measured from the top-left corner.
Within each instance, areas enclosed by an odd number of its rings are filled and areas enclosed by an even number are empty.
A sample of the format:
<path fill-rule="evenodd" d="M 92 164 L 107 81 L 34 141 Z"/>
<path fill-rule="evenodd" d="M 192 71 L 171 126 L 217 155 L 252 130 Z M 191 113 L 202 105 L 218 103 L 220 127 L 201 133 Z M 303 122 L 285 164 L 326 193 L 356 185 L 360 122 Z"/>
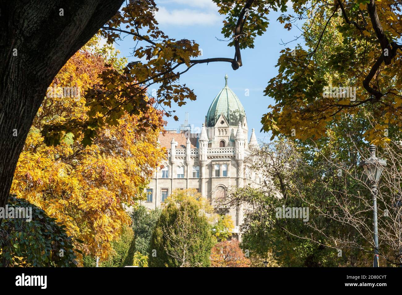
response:
<path fill-rule="evenodd" d="M 224 39 L 221 34 L 224 16 L 219 15 L 217 6 L 211 0 L 156 0 L 156 4 L 159 11 L 155 17 L 159 22 L 159 28 L 176 40 L 195 40 L 203 50 L 203 56 L 200 58 L 234 56 L 233 47 L 228 47 L 227 42 L 217 40 Z M 249 136 L 251 128 L 255 128 L 258 139 L 269 140 L 269 134 L 260 132 L 260 120 L 267 112 L 267 106 L 274 101 L 264 96 L 263 90 L 267 87 L 268 81 L 277 75 L 275 65 L 279 51 L 296 45 L 294 42 L 287 46 L 280 45 L 281 41 L 291 41 L 300 33 L 297 28 L 291 31 L 284 29 L 283 24 L 276 21 L 279 15 L 280 12 L 269 15 L 268 30 L 263 36 L 257 37 L 254 49 L 242 50 L 243 66 L 238 70 L 234 71 L 230 63 L 201 64 L 194 66 L 180 77 L 180 83 L 185 83 L 194 89 L 197 100 L 188 101 L 181 107 L 172 104 L 179 121 L 168 118 L 167 128 L 178 128 L 183 124 L 185 112 L 189 112 L 189 124 L 201 126 L 213 98 L 225 85 L 224 76 L 227 73 L 228 85 L 236 93 L 246 111 Z M 129 37 L 116 45 L 121 55 L 126 57 L 131 55 L 131 47 L 133 41 Z M 133 58 L 129 58 L 129 61 L 132 60 Z M 249 96 L 245 96 L 246 89 L 249 89 Z"/>

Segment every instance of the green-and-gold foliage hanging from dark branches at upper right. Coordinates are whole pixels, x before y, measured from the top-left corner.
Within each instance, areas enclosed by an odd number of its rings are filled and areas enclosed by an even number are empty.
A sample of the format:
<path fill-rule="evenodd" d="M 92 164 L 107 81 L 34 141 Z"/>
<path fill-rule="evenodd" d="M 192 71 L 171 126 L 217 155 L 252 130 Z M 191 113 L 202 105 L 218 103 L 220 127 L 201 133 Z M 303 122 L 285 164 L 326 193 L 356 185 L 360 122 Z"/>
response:
<path fill-rule="evenodd" d="M 345 14 L 336 13 L 341 3 Z M 338 122 L 364 118 L 373 123 L 363 130 L 366 141 L 382 146 L 400 140 L 402 14 L 392 3 L 337 1 L 334 9 L 317 2 L 304 10 L 304 1 L 294 1 L 295 15 L 279 17 L 307 15 L 305 44 L 281 51 L 279 73 L 265 89 L 275 103 L 261 122 L 272 139 L 317 140 Z"/>

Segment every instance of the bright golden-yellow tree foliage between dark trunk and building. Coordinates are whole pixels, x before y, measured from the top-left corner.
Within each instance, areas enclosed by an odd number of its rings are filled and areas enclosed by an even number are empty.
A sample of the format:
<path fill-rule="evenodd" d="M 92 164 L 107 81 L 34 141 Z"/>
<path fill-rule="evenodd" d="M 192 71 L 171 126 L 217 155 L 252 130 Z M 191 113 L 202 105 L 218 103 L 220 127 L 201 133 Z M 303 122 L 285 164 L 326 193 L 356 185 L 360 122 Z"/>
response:
<path fill-rule="evenodd" d="M 49 89 L 50 97 L 43 101 L 20 155 L 11 193 L 57 218 L 74 237 L 77 250 L 102 261 L 111 251 L 110 242 L 131 222 L 125 206 L 145 199 L 144 188 L 166 153 L 157 144 L 165 122 L 162 113 L 152 109 L 148 118 L 158 126 L 156 130 L 137 130 L 137 118 L 143 114 L 125 114 L 117 126 L 100 128 L 90 146 L 80 143 L 82 135 L 68 134 L 58 146 L 44 144 L 40 134 L 44 124 L 72 118 L 83 121 L 87 116 L 84 92 L 98 83 L 98 74 L 110 63 L 100 54 L 97 40 L 91 43 L 66 63 L 50 85 L 80 87 L 80 96 L 52 95 L 55 92 Z M 115 52 L 109 54 L 116 57 Z M 119 63 L 115 59 L 112 67 Z"/>

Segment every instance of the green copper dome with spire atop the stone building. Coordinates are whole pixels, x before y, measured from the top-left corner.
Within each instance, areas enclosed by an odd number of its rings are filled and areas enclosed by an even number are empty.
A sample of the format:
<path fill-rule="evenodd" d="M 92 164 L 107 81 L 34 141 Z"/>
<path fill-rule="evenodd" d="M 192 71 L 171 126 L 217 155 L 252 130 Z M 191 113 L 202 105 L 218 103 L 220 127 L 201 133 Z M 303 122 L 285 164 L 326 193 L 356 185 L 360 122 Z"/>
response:
<path fill-rule="evenodd" d="M 228 74 L 225 75 L 225 87 L 213 100 L 207 113 L 207 127 L 215 126 L 219 116 L 224 114 L 230 126 L 238 126 L 246 116 L 242 103 L 228 87 Z"/>

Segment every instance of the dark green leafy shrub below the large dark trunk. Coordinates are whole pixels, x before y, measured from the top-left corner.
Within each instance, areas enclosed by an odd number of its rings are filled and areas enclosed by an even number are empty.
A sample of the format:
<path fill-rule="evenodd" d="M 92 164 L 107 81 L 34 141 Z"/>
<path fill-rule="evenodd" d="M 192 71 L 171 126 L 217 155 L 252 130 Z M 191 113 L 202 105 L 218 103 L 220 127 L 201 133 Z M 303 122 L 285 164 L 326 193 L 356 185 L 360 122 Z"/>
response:
<path fill-rule="evenodd" d="M 0 267 L 76 266 L 73 242 L 64 225 L 14 195 L 9 197 L 8 208 L 32 208 L 32 220 L 3 218 L 0 225 Z"/>

